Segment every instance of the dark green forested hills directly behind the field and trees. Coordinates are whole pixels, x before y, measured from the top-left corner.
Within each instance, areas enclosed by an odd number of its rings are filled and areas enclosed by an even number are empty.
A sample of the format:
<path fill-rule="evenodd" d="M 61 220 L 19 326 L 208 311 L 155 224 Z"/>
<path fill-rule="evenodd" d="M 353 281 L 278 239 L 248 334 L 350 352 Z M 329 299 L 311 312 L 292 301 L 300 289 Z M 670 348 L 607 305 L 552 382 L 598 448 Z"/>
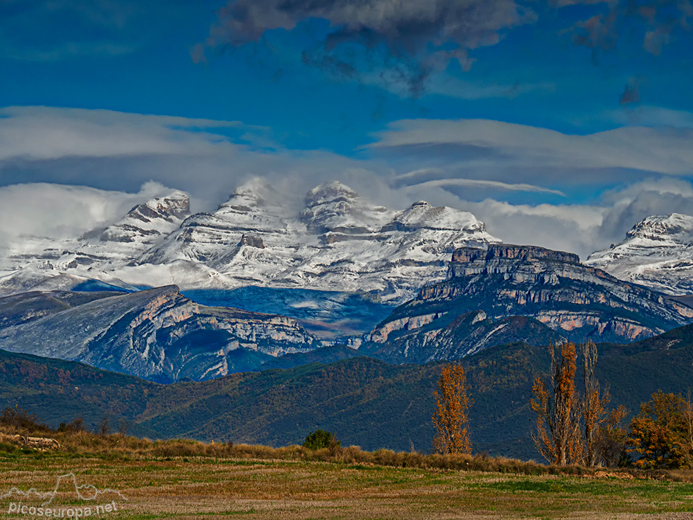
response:
<path fill-rule="evenodd" d="M 598 376 L 614 404 L 637 411 L 652 392 L 685 392 L 693 381 L 693 326 L 631 345 L 599 345 Z M 545 347 L 514 343 L 463 360 L 473 393 L 475 451 L 538 458 L 527 402 L 535 374 L 547 371 Z M 356 357 L 288 370 L 232 374 L 200 383 L 157 385 L 79 363 L 0 351 L 0 404 L 57 425 L 77 413 L 91 427 L 105 413 L 148 437 L 301 442 L 316 428 L 343 444 L 427 451 L 439 363 L 388 365 Z"/>

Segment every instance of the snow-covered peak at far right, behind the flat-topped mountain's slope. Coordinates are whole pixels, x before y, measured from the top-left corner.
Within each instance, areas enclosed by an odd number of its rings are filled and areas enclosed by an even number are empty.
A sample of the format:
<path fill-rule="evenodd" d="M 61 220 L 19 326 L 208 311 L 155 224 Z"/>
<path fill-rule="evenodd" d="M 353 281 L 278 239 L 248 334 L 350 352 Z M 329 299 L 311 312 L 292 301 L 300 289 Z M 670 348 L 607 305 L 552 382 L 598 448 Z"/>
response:
<path fill-rule="evenodd" d="M 693 294 L 693 216 L 649 216 L 585 263 L 663 293 Z"/>

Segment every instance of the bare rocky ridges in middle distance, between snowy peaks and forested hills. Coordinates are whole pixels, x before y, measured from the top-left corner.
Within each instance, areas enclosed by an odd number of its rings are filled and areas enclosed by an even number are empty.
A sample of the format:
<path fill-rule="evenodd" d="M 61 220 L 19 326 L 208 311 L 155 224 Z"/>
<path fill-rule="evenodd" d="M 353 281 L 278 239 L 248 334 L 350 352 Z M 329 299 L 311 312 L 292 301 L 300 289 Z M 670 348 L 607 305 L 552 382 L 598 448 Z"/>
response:
<path fill-rule="evenodd" d="M 268 299 L 266 291 L 251 295 L 260 303 Z M 320 301 L 335 304 L 331 298 Z M 296 301 L 283 300 L 285 305 Z M 349 306 L 342 300 L 346 311 L 335 305 L 330 312 L 351 313 L 354 305 L 362 309 L 367 303 L 356 300 Z M 693 322 L 690 306 L 585 266 L 574 254 L 494 243 L 455 250 L 444 281 L 424 285 L 363 337 L 319 337 L 317 324 L 305 318 L 234 309 L 226 302 L 204 306 L 177 286 L 20 293 L 0 298 L 0 315 L 2 349 L 159 382 L 263 370 L 281 366 L 273 360 L 284 354 L 335 343 L 392 363 L 427 363 L 518 341 L 532 346 L 566 339 L 631 342 Z"/>

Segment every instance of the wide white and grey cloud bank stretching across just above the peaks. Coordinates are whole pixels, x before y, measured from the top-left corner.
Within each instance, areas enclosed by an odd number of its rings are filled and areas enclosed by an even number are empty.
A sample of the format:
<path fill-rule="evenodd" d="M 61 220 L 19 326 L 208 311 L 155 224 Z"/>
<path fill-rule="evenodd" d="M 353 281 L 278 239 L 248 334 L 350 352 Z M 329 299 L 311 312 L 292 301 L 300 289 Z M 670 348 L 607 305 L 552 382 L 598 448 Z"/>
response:
<path fill-rule="evenodd" d="M 423 199 L 465 209 L 508 243 L 586 257 L 646 216 L 692 212 L 691 139 L 683 124 L 582 136 L 500 121 L 407 120 L 345 157 L 288 150 L 267 129 L 236 121 L 10 107 L 0 110 L 0 243 L 81 234 L 168 189 L 190 193 L 193 211 L 213 211 L 259 176 L 288 205 L 340 180 L 377 204 L 403 209 Z"/>

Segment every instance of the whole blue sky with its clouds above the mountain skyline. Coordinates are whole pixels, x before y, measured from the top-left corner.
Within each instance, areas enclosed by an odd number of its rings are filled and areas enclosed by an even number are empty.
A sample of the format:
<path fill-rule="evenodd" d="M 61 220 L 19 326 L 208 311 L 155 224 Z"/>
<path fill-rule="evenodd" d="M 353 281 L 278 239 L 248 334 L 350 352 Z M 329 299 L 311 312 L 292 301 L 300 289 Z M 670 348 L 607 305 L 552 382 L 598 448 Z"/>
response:
<path fill-rule="evenodd" d="M 0 187 L 153 180 L 209 209 L 251 175 L 337 178 L 586 254 L 693 213 L 692 21 L 689 0 L 0 0 Z"/>

